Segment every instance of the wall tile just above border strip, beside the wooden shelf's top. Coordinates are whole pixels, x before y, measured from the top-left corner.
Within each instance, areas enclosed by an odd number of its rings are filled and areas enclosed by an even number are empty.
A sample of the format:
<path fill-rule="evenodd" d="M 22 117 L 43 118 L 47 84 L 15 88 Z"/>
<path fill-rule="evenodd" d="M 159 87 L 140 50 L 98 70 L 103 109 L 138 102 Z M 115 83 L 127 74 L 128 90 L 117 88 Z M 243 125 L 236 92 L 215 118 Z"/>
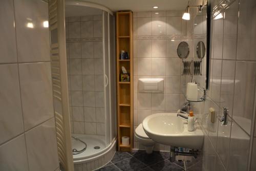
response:
<path fill-rule="evenodd" d="M 151 35 L 151 18 L 137 18 L 137 35 Z"/>

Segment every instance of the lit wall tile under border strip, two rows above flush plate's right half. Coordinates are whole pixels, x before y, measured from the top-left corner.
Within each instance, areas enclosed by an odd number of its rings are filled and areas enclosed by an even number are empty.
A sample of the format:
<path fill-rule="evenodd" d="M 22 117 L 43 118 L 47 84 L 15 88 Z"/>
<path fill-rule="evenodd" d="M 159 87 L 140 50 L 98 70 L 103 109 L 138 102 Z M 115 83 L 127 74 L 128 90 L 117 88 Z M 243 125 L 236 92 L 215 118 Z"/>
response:
<path fill-rule="evenodd" d="M 156 39 L 152 41 L 152 57 L 165 58 L 166 57 L 166 40 Z"/>

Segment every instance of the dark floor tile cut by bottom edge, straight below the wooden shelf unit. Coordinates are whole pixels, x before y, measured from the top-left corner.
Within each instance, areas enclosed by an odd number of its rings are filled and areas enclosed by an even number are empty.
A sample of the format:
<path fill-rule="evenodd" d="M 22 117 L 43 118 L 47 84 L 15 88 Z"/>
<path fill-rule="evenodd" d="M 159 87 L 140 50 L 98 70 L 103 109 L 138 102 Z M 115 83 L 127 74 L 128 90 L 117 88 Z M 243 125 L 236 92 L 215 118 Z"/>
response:
<path fill-rule="evenodd" d="M 137 160 L 135 157 L 122 160 L 120 162 L 115 163 L 115 165 L 123 171 L 137 171 L 146 167 L 145 164 Z"/>

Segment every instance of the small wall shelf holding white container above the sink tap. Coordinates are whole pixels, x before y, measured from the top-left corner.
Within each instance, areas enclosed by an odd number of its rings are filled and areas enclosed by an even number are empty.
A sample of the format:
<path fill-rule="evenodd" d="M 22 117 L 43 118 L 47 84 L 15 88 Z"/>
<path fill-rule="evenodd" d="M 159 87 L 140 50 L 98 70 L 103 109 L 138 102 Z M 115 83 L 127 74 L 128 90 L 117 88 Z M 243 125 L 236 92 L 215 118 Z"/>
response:
<path fill-rule="evenodd" d="M 200 87 L 196 82 L 188 82 L 184 84 L 186 87 L 185 98 L 191 102 L 202 102 L 206 98 L 206 90 Z"/>

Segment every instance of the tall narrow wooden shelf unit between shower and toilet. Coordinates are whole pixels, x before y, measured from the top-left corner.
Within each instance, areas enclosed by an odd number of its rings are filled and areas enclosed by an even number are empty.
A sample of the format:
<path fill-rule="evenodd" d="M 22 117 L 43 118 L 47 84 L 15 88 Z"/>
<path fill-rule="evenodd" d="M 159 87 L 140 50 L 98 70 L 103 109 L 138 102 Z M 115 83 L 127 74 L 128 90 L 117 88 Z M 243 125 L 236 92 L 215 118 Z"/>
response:
<path fill-rule="evenodd" d="M 120 52 L 128 52 L 129 59 L 120 59 Z M 133 13 L 116 13 L 116 56 L 117 56 L 117 130 L 118 151 L 133 149 Z M 130 75 L 129 82 L 121 82 L 122 66 Z M 122 136 L 130 137 L 130 144 L 122 144 Z"/>

